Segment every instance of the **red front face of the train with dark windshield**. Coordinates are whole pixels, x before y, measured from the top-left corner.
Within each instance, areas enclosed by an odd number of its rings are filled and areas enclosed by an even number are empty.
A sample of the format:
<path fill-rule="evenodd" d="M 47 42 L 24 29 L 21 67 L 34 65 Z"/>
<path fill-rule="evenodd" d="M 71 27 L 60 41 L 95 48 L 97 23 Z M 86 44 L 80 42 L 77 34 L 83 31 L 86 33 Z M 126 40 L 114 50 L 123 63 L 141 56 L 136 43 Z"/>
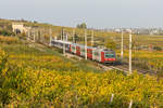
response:
<path fill-rule="evenodd" d="M 114 51 L 105 50 L 104 51 L 104 64 L 115 64 L 116 55 Z"/>

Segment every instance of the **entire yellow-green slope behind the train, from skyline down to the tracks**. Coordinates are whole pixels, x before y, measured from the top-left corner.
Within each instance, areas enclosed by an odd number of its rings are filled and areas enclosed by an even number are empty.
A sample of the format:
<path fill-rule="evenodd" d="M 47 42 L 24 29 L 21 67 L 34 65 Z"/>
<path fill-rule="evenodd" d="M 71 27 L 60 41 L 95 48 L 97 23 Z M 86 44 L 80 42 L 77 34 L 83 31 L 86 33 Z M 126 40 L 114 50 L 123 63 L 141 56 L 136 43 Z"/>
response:
<path fill-rule="evenodd" d="M 21 22 L 22 21 L 9 21 L 9 19 L 1 19 L 0 24 L 3 29 L 12 30 L 12 23 L 13 22 Z M 50 41 L 50 29 L 52 30 L 51 36 L 58 37 L 61 39 L 61 29 L 68 35 L 68 41 L 73 41 L 73 30 L 77 35 L 77 43 L 84 44 L 85 40 L 85 30 L 78 28 L 71 28 L 71 27 L 61 27 L 61 26 L 53 26 L 50 24 L 40 24 L 40 23 L 32 23 L 23 21 L 24 25 L 29 27 L 35 27 L 38 29 L 38 37 L 36 38 L 36 42 L 49 44 Z M 34 31 L 30 31 L 30 39 L 34 40 Z M 91 30 L 87 30 L 88 37 L 88 45 L 91 45 Z M 117 59 L 121 59 L 121 33 L 116 32 L 106 32 L 106 31 L 93 31 L 95 36 L 95 43 L 93 45 L 105 45 L 108 41 L 114 41 L 116 45 L 116 54 Z M 22 38 L 27 38 L 27 35 L 20 36 Z M 124 35 L 124 59 L 123 63 L 128 63 L 128 44 L 129 44 L 129 35 Z M 133 64 L 138 68 L 142 68 L 146 70 L 152 70 L 158 75 L 163 75 L 163 36 L 148 36 L 148 35 L 133 35 Z"/>

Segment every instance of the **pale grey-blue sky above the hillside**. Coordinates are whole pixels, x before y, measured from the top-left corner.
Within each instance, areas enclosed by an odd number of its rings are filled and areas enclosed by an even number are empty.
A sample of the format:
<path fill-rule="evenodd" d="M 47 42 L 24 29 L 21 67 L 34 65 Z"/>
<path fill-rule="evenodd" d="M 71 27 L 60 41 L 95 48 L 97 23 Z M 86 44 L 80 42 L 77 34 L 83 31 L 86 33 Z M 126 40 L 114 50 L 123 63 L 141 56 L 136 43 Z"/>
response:
<path fill-rule="evenodd" d="M 0 17 L 59 26 L 163 27 L 163 0 L 1 0 Z"/>

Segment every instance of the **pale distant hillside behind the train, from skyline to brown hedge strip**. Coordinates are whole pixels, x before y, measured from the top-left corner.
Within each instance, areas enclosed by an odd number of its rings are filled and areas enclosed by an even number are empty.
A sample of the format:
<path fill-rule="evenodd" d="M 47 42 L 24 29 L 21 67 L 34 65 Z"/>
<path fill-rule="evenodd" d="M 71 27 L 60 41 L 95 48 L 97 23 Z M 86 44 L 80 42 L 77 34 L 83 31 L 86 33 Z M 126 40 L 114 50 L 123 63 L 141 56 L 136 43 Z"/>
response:
<path fill-rule="evenodd" d="M 80 41 L 84 41 L 84 36 L 85 36 L 85 29 L 79 29 L 79 28 L 72 28 L 72 27 L 61 27 L 61 26 L 54 26 L 51 24 L 41 24 L 37 22 L 27 22 L 27 21 L 10 21 L 10 19 L 0 19 L 0 28 L 3 27 L 4 29 L 7 28 L 8 30 L 12 30 L 12 23 L 23 23 L 25 26 L 29 27 L 38 27 L 39 29 L 43 29 L 45 35 L 49 35 L 49 29 L 52 29 L 52 36 L 60 38 L 61 36 L 61 29 L 64 29 L 64 31 L 68 35 L 68 40 L 72 41 L 73 37 L 73 30 L 75 30 L 75 33 L 80 37 Z M 87 36 L 88 36 L 88 44 L 90 41 L 92 30 L 87 30 Z M 108 40 L 114 40 L 116 42 L 117 49 L 120 49 L 121 45 L 121 33 L 116 32 L 108 32 L 108 31 L 100 31 L 100 30 L 93 30 L 93 36 L 95 36 L 95 44 L 104 44 Z M 128 33 L 124 35 L 124 45 L 127 49 L 128 46 Z M 163 48 L 163 36 L 150 36 L 150 35 L 134 35 L 133 40 L 135 42 L 135 45 L 137 46 L 161 46 Z"/>

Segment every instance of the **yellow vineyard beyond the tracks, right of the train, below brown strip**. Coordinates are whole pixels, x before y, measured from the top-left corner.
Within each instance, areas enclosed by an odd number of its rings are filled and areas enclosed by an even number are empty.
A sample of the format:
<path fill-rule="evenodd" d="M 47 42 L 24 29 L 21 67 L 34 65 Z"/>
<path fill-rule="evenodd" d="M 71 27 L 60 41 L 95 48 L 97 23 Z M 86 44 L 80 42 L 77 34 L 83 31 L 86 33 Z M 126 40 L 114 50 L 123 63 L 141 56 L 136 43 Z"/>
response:
<path fill-rule="evenodd" d="M 121 52 L 117 51 L 121 56 Z M 128 62 L 128 51 L 124 51 L 124 63 Z M 161 51 L 133 51 L 133 66 L 151 70 L 163 77 L 163 52 Z"/>

